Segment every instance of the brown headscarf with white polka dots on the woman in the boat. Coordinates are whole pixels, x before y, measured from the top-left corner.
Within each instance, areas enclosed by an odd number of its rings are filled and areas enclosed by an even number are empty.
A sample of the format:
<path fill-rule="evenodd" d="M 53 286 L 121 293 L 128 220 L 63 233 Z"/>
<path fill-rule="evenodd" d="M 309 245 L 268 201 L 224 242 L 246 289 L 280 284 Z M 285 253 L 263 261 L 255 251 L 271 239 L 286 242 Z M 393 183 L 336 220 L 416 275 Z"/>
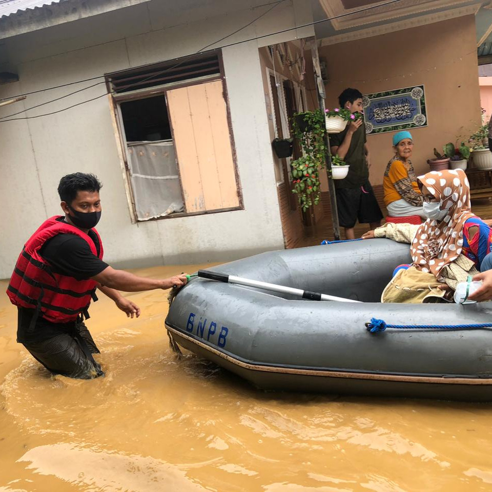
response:
<path fill-rule="evenodd" d="M 432 171 L 418 179 L 448 213 L 440 222 L 427 219 L 417 230 L 411 245 L 414 266 L 436 278 L 443 267 L 455 261 L 463 249 L 463 226 L 474 217 L 470 206 L 470 187 L 461 169 Z"/>

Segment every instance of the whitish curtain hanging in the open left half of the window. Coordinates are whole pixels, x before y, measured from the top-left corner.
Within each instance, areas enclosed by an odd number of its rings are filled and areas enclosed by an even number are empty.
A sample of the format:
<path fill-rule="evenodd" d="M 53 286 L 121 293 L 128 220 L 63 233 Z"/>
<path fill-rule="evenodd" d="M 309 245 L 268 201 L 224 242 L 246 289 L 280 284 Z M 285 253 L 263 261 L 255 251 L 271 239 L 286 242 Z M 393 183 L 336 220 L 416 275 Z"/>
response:
<path fill-rule="evenodd" d="M 185 209 L 173 142 L 131 142 L 128 165 L 138 220 Z"/>

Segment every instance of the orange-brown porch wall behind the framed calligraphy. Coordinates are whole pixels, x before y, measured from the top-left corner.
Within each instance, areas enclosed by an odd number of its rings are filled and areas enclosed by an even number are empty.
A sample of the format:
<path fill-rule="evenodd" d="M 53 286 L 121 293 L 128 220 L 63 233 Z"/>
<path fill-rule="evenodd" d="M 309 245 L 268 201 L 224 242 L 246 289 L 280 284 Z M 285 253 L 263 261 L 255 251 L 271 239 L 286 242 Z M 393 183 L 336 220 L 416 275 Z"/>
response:
<path fill-rule="evenodd" d="M 411 130 L 412 162 L 419 174 L 428 171 L 426 161 L 433 156 L 434 147 L 440 150 L 446 142 L 456 142 L 460 135 L 468 136 L 480 125 L 473 15 L 321 46 L 319 55 L 326 60 L 330 78 L 325 87 L 327 108 L 338 106 L 338 94 L 347 87 L 370 94 L 424 84 L 428 126 Z M 373 186 L 381 185 L 393 155 L 393 133 L 367 135 Z"/>

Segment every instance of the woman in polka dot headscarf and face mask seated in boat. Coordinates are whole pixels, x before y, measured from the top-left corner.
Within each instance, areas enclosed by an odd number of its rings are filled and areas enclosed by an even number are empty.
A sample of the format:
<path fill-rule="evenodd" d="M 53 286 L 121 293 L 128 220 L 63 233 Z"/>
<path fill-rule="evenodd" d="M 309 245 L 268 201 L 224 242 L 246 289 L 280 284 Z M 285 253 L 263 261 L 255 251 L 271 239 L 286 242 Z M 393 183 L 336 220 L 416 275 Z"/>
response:
<path fill-rule="evenodd" d="M 470 209 L 468 179 L 461 169 L 432 171 L 418 178 L 423 212 L 420 226 L 385 224 L 362 238 L 386 237 L 411 244 L 412 265 L 398 270 L 382 302 L 433 302 L 450 299 L 459 282 L 488 268 L 490 227 Z"/>

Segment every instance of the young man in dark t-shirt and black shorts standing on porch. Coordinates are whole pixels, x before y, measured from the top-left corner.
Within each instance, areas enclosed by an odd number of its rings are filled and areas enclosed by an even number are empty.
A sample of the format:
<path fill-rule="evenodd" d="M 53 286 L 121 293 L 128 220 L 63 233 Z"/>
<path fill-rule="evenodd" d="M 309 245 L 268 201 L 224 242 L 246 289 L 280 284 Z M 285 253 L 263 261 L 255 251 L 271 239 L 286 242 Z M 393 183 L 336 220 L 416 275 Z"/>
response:
<path fill-rule="evenodd" d="M 362 112 L 362 94 L 357 89 L 345 89 L 339 96 L 340 108 L 352 113 Z M 383 214 L 369 182 L 370 157 L 363 118 L 351 121 L 343 132 L 330 135 L 332 154 L 341 157 L 350 168 L 347 177 L 335 180 L 338 221 L 345 228 L 345 238 L 355 239 L 354 226 L 369 223 L 376 229 Z"/>

